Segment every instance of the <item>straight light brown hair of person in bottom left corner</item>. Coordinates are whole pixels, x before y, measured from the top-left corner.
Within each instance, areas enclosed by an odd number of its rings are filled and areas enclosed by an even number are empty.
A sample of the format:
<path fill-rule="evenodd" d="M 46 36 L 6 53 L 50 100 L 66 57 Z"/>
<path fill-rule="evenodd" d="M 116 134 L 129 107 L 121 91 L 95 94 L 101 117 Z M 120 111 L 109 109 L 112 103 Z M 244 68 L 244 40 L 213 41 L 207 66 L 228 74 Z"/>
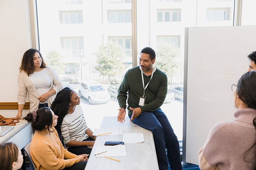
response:
<path fill-rule="evenodd" d="M 18 160 L 19 148 L 14 143 L 0 145 L 0 169 L 12 170 L 13 162 Z"/>

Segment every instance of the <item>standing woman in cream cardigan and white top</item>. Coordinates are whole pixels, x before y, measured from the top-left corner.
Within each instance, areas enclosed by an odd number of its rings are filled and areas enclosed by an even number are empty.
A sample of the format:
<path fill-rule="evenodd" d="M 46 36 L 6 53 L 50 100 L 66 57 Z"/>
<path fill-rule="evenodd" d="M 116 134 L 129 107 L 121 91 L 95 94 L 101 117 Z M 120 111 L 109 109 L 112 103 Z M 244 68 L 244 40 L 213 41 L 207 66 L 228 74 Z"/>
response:
<path fill-rule="evenodd" d="M 40 51 L 27 50 L 22 58 L 18 75 L 18 115 L 22 120 L 22 111 L 28 94 L 29 112 L 41 107 L 51 107 L 55 95 L 63 88 L 62 83 L 51 67 L 46 67 Z"/>

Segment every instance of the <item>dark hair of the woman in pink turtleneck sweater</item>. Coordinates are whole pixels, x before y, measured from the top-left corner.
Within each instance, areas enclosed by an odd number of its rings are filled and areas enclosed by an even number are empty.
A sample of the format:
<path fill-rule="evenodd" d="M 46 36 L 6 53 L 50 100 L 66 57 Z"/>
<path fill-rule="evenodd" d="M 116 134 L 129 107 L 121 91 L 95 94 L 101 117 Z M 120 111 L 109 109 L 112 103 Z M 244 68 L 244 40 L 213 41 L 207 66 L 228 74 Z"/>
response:
<path fill-rule="evenodd" d="M 248 108 L 256 109 L 256 72 L 250 71 L 242 75 L 237 85 L 237 95 Z"/>

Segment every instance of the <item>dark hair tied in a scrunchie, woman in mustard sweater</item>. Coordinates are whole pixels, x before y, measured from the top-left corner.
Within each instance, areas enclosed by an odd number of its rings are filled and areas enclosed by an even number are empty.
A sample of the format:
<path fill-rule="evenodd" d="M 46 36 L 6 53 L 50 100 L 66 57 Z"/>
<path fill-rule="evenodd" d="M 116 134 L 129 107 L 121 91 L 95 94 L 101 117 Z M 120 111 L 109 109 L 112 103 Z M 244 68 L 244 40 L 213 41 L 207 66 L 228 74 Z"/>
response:
<path fill-rule="evenodd" d="M 42 131 L 45 129 L 45 126 L 47 126 L 47 130 L 52 132 L 50 128 L 53 124 L 53 114 L 48 107 L 42 107 L 36 112 L 33 111 L 33 113 L 29 113 L 24 119 L 28 122 L 32 122 L 31 126 L 36 131 Z"/>

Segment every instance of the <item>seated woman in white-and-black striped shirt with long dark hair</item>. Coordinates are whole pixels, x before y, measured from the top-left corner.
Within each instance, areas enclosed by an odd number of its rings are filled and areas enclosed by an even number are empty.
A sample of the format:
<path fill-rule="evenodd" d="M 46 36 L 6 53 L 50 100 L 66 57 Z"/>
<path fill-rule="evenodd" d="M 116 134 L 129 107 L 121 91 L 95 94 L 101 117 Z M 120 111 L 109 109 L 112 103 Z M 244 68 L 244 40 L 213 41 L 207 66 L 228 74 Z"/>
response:
<path fill-rule="evenodd" d="M 59 117 L 55 128 L 63 136 L 69 152 L 76 155 L 90 154 L 96 136 L 93 136 L 93 132 L 88 128 L 79 104 L 80 97 L 70 88 L 66 87 L 58 92 L 51 106 Z"/>

